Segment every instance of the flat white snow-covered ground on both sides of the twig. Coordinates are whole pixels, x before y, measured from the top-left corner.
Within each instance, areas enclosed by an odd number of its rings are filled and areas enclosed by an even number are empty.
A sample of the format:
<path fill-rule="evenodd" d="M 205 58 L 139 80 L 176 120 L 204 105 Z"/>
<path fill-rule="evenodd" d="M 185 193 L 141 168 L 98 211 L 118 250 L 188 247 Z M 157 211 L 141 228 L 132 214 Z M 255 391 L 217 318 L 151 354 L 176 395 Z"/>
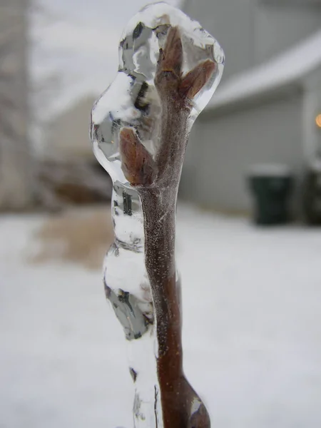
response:
<path fill-rule="evenodd" d="M 42 218 L 0 218 L 0 427 L 133 428 L 101 274 L 30 265 Z M 185 371 L 219 428 L 321 427 L 321 230 L 178 216 Z M 174 428 L 174 427 L 173 427 Z"/>

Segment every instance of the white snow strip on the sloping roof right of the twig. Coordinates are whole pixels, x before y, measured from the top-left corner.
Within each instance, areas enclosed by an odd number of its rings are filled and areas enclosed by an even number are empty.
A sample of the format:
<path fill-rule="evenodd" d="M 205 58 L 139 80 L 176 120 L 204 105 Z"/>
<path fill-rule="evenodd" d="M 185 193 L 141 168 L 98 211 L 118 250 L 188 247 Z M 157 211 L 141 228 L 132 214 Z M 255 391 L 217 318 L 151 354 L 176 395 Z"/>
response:
<path fill-rule="evenodd" d="M 240 73 L 218 88 L 207 109 L 272 91 L 321 65 L 321 30 L 270 61 Z"/>

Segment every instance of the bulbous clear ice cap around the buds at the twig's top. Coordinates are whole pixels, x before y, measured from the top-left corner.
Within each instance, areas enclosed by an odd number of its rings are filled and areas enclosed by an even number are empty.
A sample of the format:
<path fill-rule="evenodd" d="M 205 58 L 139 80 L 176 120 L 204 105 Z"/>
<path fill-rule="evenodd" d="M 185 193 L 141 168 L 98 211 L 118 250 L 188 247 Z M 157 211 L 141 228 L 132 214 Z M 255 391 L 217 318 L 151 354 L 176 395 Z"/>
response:
<path fill-rule="evenodd" d="M 178 26 L 183 44 L 183 74 L 201 61 L 217 64 L 216 73 L 193 100 L 190 127 L 205 108 L 220 82 L 224 54 L 218 42 L 182 11 L 163 2 L 150 4 L 129 21 L 119 44 L 119 66 L 115 80 L 98 98 L 92 111 L 93 150 L 113 180 L 129 186 L 118 151 L 119 131 L 136 128 L 151 155 L 158 150 L 161 105 L 154 85 L 159 51 L 170 26 Z"/>

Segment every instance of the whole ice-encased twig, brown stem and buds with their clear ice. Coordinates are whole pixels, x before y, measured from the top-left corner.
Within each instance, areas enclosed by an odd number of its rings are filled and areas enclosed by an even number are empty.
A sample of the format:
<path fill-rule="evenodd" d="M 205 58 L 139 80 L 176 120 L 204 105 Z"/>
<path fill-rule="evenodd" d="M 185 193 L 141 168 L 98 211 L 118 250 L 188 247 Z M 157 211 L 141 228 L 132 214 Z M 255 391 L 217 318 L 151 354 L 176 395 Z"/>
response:
<path fill-rule="evenodd" d="M 106 297 L 128 342 L 136 428 L 209 428 L 185 379 L 175 208 L 190 128 L 223 73 L 220 45 L 165 3 L 129 21 L 115 80 L 91 113 L 93 151 L 113 180 Z"/>

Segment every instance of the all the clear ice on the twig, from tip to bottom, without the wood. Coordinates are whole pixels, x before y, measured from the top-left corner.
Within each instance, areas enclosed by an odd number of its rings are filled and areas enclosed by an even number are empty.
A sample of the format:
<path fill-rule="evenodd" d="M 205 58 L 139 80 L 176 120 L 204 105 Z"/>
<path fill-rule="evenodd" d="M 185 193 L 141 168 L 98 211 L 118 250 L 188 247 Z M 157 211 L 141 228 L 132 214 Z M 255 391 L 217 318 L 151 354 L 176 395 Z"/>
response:
<path fill-rule="evenodd" d="M 135 399 L 136 428 L 163 428 L 156 358 L 156 322 L 151 284 L 145 265 L 141 200 L 121 168 L 119 133 L 135 128 L 143 146 L 156 156 L 159 145 L 161 101 L 154 84 L 160 49 L 168 30 L 178 27 L 183 46 L 183 76 L 210 59 L 215 73 L 193 98 L 188 126 L 206 106 L 220 82 L 224 54 L 198 22 L 165 3 L 146 6 L 129 21 L 119 45 L 119 67 L 113 83 L 92 110 L 93 151 L 113 179 L 112 217 L 115 240 L 104 260 L 106 296 L 128 341 L 129 372 Z M 192 414 L 200 402 L 193 402 Z"/>

